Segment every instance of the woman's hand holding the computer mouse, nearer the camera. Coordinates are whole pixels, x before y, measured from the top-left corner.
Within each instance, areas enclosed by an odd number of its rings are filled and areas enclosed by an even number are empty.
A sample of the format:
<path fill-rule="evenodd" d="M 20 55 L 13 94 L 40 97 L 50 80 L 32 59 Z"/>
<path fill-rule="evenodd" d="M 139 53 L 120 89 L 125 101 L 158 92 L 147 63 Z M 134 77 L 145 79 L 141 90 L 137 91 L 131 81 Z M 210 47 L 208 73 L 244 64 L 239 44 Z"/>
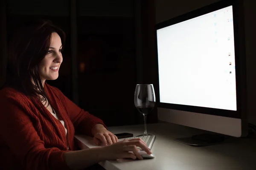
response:
<path fill-rule="evenodd" d="M 151 154 L 151 151 L 140 138 L 123 140 L 116 142 L 105 147 L 102 147 L 102 156 L 105 160 L 116 160 L 116 159 L 143 159 L 137 149 L 137 146 L 145 150 L 146 153 Z"/>

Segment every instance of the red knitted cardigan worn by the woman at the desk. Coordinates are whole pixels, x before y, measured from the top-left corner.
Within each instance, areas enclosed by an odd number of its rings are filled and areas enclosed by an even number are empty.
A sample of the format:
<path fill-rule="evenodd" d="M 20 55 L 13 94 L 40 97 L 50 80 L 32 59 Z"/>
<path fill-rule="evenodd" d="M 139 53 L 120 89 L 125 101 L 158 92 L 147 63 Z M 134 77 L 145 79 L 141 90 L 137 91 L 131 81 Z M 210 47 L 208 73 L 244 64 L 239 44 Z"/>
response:
<path fill-rule="evenodd" d="M 92 136 L 93 125 L 104 125 L 57 88 L 45 83 L 44 90 L 50 105 L 65 123 L 68 140 L 61 122 L 41 101 L 29 99 L 13 88 L 4 88 L 0 91 L 0 169 L 69 169 L 62 155 L 76 150 L 75 130 Z"/>

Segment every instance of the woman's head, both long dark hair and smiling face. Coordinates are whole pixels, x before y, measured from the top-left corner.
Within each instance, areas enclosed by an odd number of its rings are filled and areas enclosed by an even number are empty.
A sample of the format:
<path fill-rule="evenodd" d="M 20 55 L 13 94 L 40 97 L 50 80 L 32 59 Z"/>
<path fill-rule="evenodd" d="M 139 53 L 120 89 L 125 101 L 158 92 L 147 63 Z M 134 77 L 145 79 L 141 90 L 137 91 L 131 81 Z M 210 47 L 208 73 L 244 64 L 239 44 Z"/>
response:
<path fill-rule="evenodd" d="M 49 67 L 62 62 L 62 55 L 53 48 L 62 49 L 65 39 L 65 33 L 49 21 L 32 20 L 18 28 L 9 43 L 8 85 L 28 96 L 40 96 L 45 101 L 45 80 L 58 78 L 58 72 L 51 74 Z"/>

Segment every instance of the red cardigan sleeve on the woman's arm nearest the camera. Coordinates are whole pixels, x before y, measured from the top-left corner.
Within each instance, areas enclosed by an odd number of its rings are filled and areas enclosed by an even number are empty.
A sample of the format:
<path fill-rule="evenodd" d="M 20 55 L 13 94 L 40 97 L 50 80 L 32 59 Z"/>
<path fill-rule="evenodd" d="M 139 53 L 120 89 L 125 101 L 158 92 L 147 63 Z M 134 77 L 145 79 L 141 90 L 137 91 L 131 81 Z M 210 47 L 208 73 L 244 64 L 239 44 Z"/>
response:
<path fill-rule="evenodd" d="M 0 138 L 24 169 L 69 169 L 63 159 L 66 151 L 44 147 L 44 141 L 33 125 L 36 118 L 32 122 L 31 117 L 26 114 L 29 108 L 26 110 L 20 105 L 20 102 L 24 102 L 23 99 L 17 101 L 16 96 L 11 96 L 0 97 L 0 101 Z"/>

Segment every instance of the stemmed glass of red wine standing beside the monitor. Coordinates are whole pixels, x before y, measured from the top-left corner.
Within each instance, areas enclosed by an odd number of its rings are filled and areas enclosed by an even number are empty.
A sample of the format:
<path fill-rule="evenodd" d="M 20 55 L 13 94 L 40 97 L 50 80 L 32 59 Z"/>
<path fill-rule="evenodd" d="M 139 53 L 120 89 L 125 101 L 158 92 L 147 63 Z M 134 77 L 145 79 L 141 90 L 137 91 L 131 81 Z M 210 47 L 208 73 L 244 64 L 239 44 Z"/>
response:
<path fill-rule="evenodd" d="M 139 136 L 148 136 L 146 127 L 147 114 L 154 108 L 156 99 L 154 86 L 152 84 L 137 84 L 134 94 L 134 105 L 144 116 L 144 134 Z"/>

